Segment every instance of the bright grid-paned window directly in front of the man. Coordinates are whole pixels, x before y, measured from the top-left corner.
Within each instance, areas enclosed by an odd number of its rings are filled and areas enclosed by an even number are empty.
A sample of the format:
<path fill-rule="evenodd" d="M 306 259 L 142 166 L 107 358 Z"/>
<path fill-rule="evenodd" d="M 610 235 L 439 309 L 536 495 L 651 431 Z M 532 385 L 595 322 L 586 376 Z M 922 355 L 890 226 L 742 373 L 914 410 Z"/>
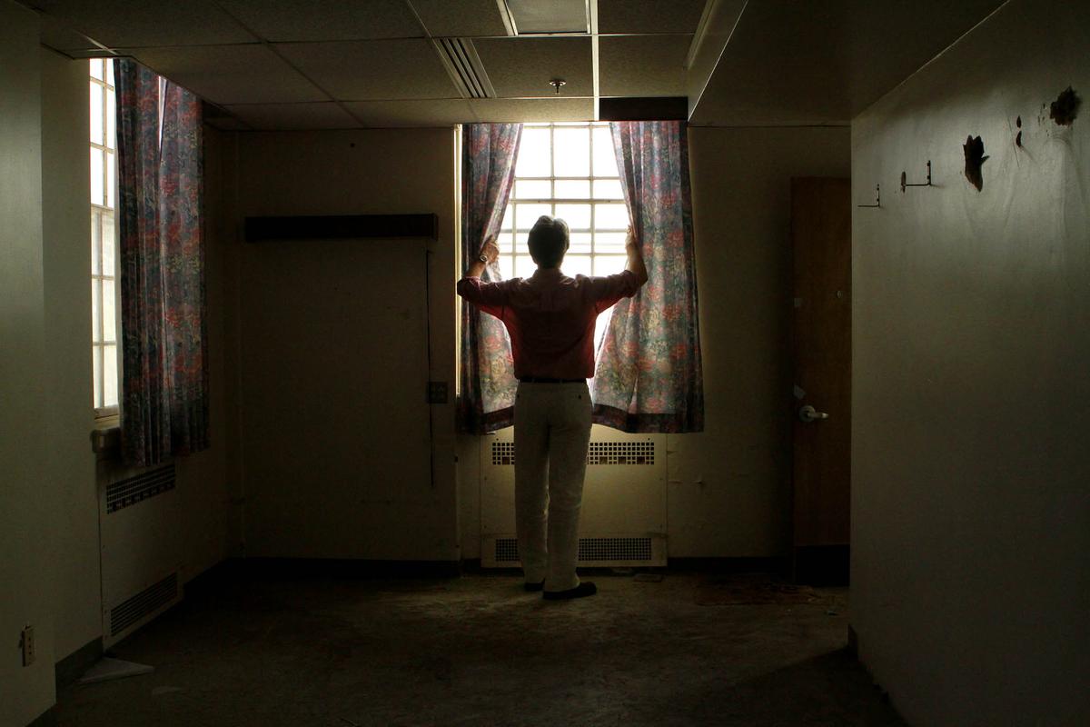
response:
<path fill-rule="evenodd" d="M 542 215 L 568 223 L 571 245 L 560 266 L 565 275 L 625 269 L 628 210 L 607 122 L 523 124 L 514 189 L 496 241 L 504 278 L 529 278 L 537 269 L 526 238 Z M 611 312 L 598 316 L 595 348 Z"/>

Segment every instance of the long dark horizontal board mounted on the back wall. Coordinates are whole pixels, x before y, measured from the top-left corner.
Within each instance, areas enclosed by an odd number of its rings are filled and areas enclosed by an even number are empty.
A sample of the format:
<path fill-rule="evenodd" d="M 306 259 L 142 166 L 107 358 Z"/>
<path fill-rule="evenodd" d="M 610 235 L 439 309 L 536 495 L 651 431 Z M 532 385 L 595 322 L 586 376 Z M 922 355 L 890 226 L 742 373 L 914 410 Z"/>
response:
<path fill-rule="evenodd" d="M 246 242 L 270 240 L 346 240 L 426 238 L 437 240 L 438 216 L 425 215 L 295 215 L 247 217 Z"/>

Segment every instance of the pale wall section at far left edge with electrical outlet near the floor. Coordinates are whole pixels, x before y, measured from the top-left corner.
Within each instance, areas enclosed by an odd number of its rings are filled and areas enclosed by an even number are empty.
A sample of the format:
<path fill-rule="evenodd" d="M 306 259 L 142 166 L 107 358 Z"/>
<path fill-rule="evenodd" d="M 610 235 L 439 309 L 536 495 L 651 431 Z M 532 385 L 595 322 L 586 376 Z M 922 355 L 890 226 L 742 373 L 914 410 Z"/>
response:
<path fill-rule="evenodd" d="M 53 581 L 44 543 L 57 497 L 46 484 L 41 93 L 38 21 L 0 0 L 0 725 L 53 701 Z M 17 69 L 10 72 L 9 69 Z M 27 623 L 38 658 L 24 667 Z"/>

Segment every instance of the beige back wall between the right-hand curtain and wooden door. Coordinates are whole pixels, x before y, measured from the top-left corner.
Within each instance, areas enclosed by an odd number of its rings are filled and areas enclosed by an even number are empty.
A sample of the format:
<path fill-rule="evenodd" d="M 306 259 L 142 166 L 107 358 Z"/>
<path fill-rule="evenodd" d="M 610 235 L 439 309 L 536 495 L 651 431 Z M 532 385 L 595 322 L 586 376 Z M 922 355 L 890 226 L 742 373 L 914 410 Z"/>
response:
<path fill-rule="evenodd" d="M 671 557 L 790 538 L 790 180 L 848 177 L 846 128 L 689 130 L 702 434 L 668 437 Z"/>

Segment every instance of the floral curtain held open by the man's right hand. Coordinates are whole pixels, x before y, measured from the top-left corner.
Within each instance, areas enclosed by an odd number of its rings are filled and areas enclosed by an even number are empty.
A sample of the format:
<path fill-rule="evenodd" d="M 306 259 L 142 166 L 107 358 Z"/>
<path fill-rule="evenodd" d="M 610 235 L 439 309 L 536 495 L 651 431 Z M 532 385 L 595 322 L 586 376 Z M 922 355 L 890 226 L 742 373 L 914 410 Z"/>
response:
<path fill-rule="evenodd" d="M 617 303 L 602 339 L 592 383 L 594 421 L 625 432 L 701 432 L 704 384 L 686 124 L 609 126 L 647 282 Z"/>

